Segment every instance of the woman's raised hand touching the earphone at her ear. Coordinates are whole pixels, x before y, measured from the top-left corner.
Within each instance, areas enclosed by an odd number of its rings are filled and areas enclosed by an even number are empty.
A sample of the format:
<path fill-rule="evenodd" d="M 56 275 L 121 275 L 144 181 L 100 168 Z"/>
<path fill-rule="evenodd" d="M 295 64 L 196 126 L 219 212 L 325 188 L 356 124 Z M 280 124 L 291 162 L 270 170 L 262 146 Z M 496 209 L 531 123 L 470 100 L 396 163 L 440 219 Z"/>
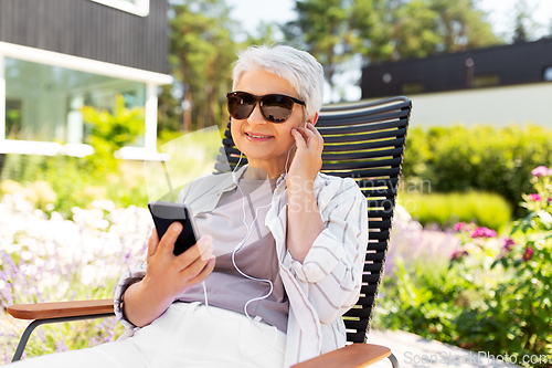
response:
<path fill-rule="evenodd" d="M 323 138 L 310 123 L 305 127 L 291 129 L 297 149 L 288 170 L 288 187 L 290 183 L 312 183 L 322 167 Z"/>

